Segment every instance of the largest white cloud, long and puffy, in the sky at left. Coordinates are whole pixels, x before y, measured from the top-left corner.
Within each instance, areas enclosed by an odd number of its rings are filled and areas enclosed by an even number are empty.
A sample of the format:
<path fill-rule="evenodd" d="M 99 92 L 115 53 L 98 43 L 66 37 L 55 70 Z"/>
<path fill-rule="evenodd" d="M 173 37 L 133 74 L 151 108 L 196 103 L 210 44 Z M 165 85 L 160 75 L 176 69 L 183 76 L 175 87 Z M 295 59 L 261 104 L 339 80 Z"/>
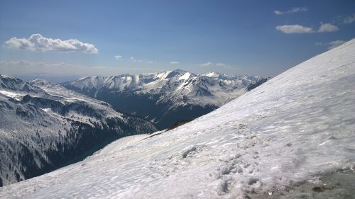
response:
<path fill-rule="evenodd" d="M 45 38 L 40 34 L 33 34 L 30 38 L 11 38 L 5 42 L 6 47 L 31 50 L 36 52 L 85 52 L 96 54 L 99 51 L 94 45 L 79 40 L 60 40 Z"/>

